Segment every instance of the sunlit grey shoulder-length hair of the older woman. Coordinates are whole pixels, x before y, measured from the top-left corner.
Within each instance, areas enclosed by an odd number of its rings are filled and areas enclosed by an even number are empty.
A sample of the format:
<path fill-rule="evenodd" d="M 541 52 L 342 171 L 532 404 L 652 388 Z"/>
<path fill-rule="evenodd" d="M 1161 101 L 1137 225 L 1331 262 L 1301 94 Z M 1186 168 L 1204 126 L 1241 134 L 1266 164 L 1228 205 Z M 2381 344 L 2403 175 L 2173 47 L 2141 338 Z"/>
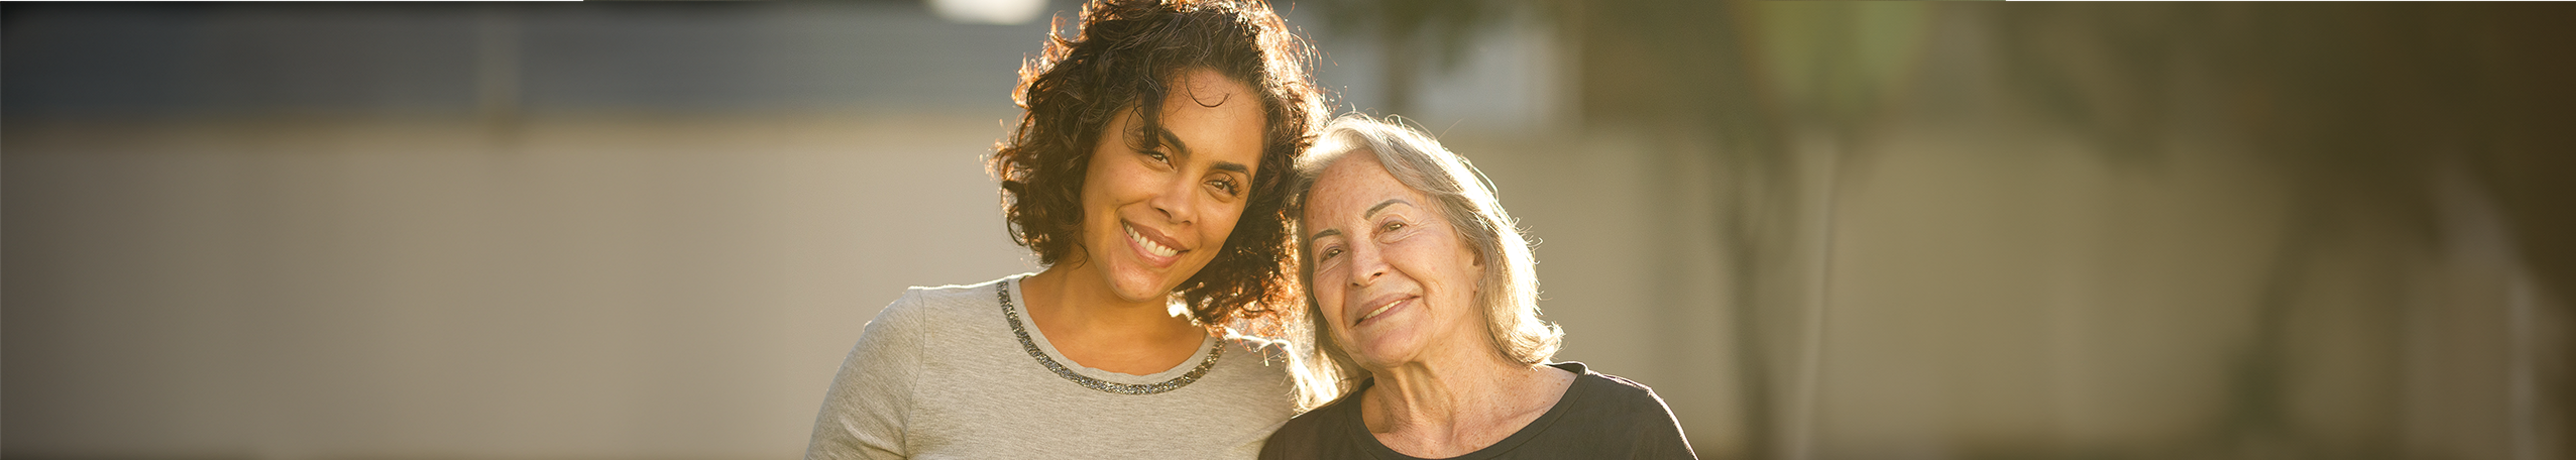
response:
<path fill-rule="evenodd" d="M 1368 378 L 1368 370 L 1342 352 L 1332 332 L 1316 326 L 1324 308 L 1314 301 L 1314 257 L 1306 257 L 1309 247 L 1303 244 L 1303 213 L 1316 177 L 1358 152 L 1386 164 L 1386 172 L 1404 188 L 1437 200 L 1440 216 L 1484 262 L 1476 303 L 1484 306 L 1484 326 L 1494 339 L 1494 352 L 1522 365 L 1556 357 L 1564 329 L 1538 319 L 1538 260 L 1530 257 L 1530 239 L 1520 234 L 1520 221 L 1502 211 L 1484 172 L 1476 172 L 1466 157 L 1448 152 L 1430 134 L 1404 126 L 1401 118 L 1340 116 L 1324 126 L 1314 149 L 1298 157 L 1296 185 L 1288 195 L 1288 216 L 1298 221 L 1298 285 L 1306 285 L 1306 321 L 1291 326 L 1291 337 L 1303 337 L 1298 339 L 1303 344 L 1296 373 L 1298 403 L 1321 406 Z"/>

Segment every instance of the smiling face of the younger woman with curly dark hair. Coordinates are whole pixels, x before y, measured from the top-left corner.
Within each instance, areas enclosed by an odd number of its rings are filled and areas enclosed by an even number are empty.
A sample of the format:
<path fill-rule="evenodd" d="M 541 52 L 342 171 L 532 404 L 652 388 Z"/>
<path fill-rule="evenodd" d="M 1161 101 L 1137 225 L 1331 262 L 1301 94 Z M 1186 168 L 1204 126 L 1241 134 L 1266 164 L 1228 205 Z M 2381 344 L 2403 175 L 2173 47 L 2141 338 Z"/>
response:
<path fill-rule="evenodd" d="M 1260 93 L 1244 82 L 1182 72 L 1151 111 L 1162 123 L 1151 131 L 1139 131 L 1133 108 L 1121 111 L 1082 177 L 1077 270 L 1131 303 L 1162 303 L 1224 252 L 1262 159 Z"/>

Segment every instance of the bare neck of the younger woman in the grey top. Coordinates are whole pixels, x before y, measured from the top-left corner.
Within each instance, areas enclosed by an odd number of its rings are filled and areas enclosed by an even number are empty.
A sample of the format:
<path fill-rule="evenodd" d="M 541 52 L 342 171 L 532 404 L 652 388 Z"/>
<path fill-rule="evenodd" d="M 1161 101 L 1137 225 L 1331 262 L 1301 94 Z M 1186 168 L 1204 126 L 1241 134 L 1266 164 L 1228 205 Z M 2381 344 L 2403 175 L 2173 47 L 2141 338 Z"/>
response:
<path fill-rule="evenodd" d="M 1082 265 L 1056 265 L 1020 280 L 1028 319 L 1064 357 L 1097 370 L 1149 375 L 1170 370 L 1206 339 L 1164 301 L 1118 298 Z"/>

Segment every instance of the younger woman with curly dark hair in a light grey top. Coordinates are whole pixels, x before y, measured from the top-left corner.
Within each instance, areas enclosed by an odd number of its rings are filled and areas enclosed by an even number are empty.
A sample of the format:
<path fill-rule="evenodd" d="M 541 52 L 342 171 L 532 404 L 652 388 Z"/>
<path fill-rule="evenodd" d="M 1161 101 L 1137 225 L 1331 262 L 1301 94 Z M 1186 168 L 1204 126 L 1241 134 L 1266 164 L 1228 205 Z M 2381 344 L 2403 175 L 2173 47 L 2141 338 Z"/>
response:
<path fill-rule="evenodd" d="M 992 154 L 1046 270 L 912 288 L 842 362 L 806 457 L 1252 457 L 1296 411 L 1280 213 L 1324 103 L 1257 0 L 1095 0 L 1020 69 Z"/>

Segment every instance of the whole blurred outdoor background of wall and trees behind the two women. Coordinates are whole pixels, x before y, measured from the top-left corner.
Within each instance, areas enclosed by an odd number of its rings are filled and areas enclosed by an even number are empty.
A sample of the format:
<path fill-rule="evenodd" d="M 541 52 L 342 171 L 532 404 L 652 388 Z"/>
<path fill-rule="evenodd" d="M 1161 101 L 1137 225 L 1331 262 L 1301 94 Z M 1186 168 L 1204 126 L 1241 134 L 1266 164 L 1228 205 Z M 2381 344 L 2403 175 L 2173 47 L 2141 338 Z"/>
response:
<path fill-rule="evenodd" d="M 1066 0 L 0 5 L 0 457 L 796 457 Z M 1703 457 L 2576 457 L 2576 5 L 1303 0 Z"/>

